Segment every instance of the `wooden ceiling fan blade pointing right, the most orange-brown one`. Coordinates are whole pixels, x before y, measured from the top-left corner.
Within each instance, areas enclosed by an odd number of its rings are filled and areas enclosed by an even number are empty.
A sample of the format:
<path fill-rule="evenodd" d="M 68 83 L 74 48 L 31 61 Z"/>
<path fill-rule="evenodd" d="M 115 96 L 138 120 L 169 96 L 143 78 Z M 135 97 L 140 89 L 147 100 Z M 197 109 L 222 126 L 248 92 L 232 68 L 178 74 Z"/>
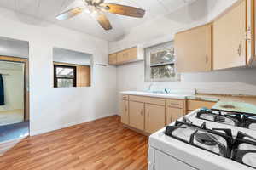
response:
<path fill-rule="evenodd" d="M 115 3 L 102 3 L 101 6 L 105 8 L 109 13 L 121 14 L 125 16 L 143 18 L 145 10 L 141 8 L 135 8 L 125 5 L 119 5 Z"/>

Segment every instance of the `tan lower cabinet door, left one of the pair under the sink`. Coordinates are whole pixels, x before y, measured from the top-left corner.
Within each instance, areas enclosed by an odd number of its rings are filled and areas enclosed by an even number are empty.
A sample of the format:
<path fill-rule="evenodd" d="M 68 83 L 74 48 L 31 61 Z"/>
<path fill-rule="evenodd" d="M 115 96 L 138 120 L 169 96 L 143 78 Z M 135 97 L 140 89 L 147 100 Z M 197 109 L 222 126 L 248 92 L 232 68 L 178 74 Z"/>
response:
<path fill-rule="evenodd" d="M 129 125 L 144 130 L 144 103 L 129 101 Z"/>

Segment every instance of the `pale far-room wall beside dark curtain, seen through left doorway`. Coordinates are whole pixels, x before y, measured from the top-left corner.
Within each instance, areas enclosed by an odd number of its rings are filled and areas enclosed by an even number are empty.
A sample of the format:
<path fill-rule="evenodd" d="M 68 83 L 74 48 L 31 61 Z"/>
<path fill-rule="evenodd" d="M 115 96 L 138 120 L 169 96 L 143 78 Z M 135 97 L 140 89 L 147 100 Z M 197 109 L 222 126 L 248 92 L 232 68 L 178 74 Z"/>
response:
<path fill-rule="evenodd" d="M 9 69 L 2 69 L 7 63 L 0 61 L 0 73 L 3 74 L 5 105 L 0 111 L 22 110 L 24 108 L 24 70 L 21 64 L 9 64 Z"/>

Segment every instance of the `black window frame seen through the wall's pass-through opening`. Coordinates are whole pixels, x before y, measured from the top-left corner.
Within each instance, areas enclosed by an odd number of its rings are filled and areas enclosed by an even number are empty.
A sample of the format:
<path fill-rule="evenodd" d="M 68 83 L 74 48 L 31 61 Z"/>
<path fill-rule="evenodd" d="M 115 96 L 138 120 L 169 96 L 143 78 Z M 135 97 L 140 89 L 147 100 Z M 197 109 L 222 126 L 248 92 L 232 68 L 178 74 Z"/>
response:
<path fill-rule="evenodd" d="M 57 77 L 57 68 L 69 68 L 73 69 L 73 78 L 69 77 Z M 58 79 L 73 80 L 73 87 L 58 87 Z M 54 88 L 76 88 L 77 87 L 77 67 L 71 65 L 54 65 Z"/>

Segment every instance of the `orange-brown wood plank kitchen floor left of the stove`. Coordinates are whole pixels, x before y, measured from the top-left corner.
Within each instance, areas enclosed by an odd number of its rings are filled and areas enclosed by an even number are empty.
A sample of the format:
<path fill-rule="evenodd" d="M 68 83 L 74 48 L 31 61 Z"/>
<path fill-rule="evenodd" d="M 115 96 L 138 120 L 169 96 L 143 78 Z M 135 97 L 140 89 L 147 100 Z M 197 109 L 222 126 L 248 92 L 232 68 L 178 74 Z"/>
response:
<path fill-rule="evenodd" d="M 110 116 L 23 139 L 0 157 L 0 169 L 146 170 L 147 152 L 148 137 Z"/>

